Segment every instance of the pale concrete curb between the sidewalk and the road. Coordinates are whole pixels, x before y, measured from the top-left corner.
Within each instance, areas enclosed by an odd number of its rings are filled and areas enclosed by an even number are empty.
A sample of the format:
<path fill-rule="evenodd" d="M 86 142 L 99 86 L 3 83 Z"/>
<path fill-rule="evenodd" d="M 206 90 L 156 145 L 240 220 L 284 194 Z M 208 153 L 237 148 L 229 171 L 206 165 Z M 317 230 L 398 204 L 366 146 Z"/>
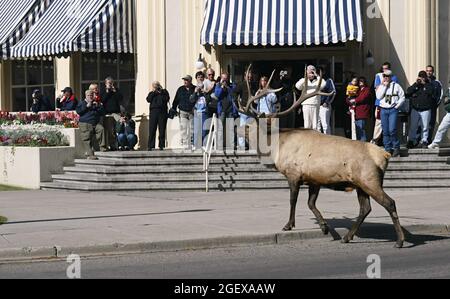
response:
<path fill-rule="evenodd" d="M 363 226 L 359 234 L 370 234 L 375 236 L 391 236 L 394 229 L 388 225 L 383 226 Z M 450 226 L 444 224 L 432 225 L 411 225 L 404 226 L 409 233 L 450 233 Z M 21 249 L 0 250 L 0 264 L 7 262 L 30 262 L 30 261 L 51 261 L 65 259 L 71 254 L 77 254 L 82 257 L 101 257 L 126 254 L 142 254 L 156 252 L 174 252 L 189 251 L 201 249 L 218 249 L 230 247 L 243 247 L 248 245 L 283 245 L 296 241 L 305 241 L 313 239 L 340 240 L 341 236 L 349 232 L 346 228 L 331 229 L 330 235 L 323 235 L 321 230 L 294 231 L 286 233 L 274 233 L 264 235 L 218 237 L 210 239 L 194 239 L 180 241 L 163 241 L 136 244 L 110 244 L 110 245 L 91 245 L 81 247 L 26 247 Z"/>

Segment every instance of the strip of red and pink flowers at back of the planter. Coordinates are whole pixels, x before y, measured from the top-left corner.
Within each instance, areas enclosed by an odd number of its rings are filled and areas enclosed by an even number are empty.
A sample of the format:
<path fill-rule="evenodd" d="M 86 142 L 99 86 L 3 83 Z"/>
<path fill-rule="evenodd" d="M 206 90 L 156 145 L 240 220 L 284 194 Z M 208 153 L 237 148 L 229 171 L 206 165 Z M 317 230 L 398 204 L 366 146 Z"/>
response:
<path fill-rule="evenodd" d="M 34 113 L 10 113 L 0 111 L 0 125 L 45 124 L 78 128 L 80 117 L 75 112 L 51 111 Z"/>

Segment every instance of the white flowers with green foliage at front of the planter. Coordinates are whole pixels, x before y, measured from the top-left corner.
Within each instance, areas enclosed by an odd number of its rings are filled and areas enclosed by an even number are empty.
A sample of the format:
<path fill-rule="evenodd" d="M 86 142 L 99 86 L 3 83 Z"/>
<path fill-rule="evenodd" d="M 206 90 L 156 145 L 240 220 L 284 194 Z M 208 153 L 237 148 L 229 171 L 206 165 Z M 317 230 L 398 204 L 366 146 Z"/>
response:
<path fill-rule="evenodd" d="M 62 129 L 62 126 L 45 124 L 3 124 L 0 125 L 0 146 L 69 146 L 69 140 Z"/>

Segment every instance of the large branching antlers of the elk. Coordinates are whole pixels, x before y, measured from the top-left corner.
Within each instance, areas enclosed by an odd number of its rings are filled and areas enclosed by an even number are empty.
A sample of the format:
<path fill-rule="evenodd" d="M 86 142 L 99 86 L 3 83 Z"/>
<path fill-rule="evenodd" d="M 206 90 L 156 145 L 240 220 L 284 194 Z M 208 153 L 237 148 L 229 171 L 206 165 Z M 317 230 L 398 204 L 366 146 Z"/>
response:
<path fill-rule="evenodd" d="M 302 88 L 302 92 L 299 98 L 297 98 L 297 95 L 294 91 L 294 104 L 286 111 L 279 111 L 270 115 L 266 115 L 266 114 L 261 114 L 258 111 L 256 111 L 256 109 L 254 108 L 254 104 L 257 103 L 261 98 L 267 96 L 270 93 L 278 93 L 280 92 L 282 89 L 270 89 L 270 83 L 272 82 L 273 76 L 275 74 L 275 71 L 272 72 L 272 75 L 270 76 L 269 82 L 267 84 L 267 86 L 262 89 L 259 90 L 258 93 L 254 96 L 252 96 L 251 94 L 251 88 L 250 88 L 250 82 L 248 82 L 248 78 L 247 75 L 250 73 L 252 66 L 250 65 L 246 74 L 245 74 L 245 82 L 247 83 L 247 89 L 248 89 L 248 94 L 250 96 L 250 98 L 247 101 L 247 104 L 244 106 L 242 99 L 239 98 L 238 99 L 238 105 L 239 105 L 239 112 L 248 116 L 251 116 L 255 119 L 260 119 L 260 118 L 281 118 L 281 117 L 285 117 L 287 115 L 289 115 L 290 113 L 292 113 L 293 111 L 297 110 L 306 100 L 311 99 L 313 97 L 316 96 L 332 96 L 334 95 L 334 92 L 332 93 L 325 93 L 322 92 L 321 90 L 321 86 L 322 86 L 322 82 L 323 82 L 323 72 L 320 71 L 320 79 L 319 79 L 319 84 L 317 86 L 317 89 L 314 92 L 309 93 L 308 92 L 308 85 L 309 85 L 309 80 L 308 80 L 308 71 L 307 68 L 305 68 L 305 83 L 303 85 Z"/>

